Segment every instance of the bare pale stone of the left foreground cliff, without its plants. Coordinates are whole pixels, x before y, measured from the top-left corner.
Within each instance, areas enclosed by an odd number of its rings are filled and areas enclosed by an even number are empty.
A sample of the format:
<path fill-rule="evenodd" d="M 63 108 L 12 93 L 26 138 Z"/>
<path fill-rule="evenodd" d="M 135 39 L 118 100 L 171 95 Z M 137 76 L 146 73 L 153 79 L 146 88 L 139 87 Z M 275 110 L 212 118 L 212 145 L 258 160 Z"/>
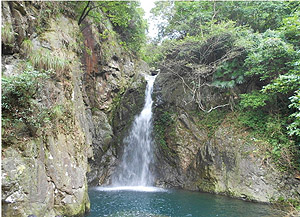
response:
<path fill-rule="evenodd" d="M 20 44 L 31 31 L 30 22 L 34 22 L 33 17 L 37 16 L 36 9 L 32 8 L 34 4 L 17 2 L 12 5 L 12 10 L 6 16 L 7 19 L 12 17 L 16 20 L 12 25 L 18 30 Z M 60 116 L 51 117 L 51 125 L 39 129 L 36 137 L 24 135 L 21 141 L 16 139 L 10 147 L 2 149 L 4 217 L 23 217 L 32 213 L 39 217 L 53 217 L 57 214 L 74 216 L 83 215 L 89 209 L 85 174 L 88 170 L 87 150 L 90 149 L 91 136 L 85 126 L 86 107 L 80 89 L 82 76 L 78 70 L 80 59 L 71 48 L 61 46 L 62 41 L 76 42 L 74 36 L 79 34 L 79 28 L 75 20 L 63 15 L 55 19 L 49 19 L 51 31 L 45 31 L 34 38 L 33 49 L 46 47 L 57 55 L 68 53 L 69 58 L 74 60 L 71 65 L 73 71 L 71 76 L 65 74 L 60 77 L 61 80 L 48 79 L 45 86 L 41 86 L 36 93 L 35 105 L 48 108 L 51 115 L 51 109 L 55 106 L 61 106 L 63 112 Z M 18 28 L 15 25 L 19 25 Z M 7 65 L 6 73 L 22 73 L 17 67 L 18 62 L 24 61 L 22 58 L 21 55 L 3 58 Z M 68 97 L 69 90 L 74 92 L 73 100 Z M 68 196 L 64 196 L 65 192 Z"/>

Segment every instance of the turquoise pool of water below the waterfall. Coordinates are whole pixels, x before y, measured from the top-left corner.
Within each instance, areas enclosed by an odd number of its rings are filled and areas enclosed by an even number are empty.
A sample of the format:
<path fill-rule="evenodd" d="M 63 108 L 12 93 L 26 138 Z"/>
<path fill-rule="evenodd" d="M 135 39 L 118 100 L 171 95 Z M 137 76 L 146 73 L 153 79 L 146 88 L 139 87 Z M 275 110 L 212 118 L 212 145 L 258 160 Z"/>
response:
<path fill-rule="evenodd" d="M 92 188 L 89 196 L 91 212 L 88 217 L 282 216 L 269 205 L 181 190 L 145 192 Z"/>

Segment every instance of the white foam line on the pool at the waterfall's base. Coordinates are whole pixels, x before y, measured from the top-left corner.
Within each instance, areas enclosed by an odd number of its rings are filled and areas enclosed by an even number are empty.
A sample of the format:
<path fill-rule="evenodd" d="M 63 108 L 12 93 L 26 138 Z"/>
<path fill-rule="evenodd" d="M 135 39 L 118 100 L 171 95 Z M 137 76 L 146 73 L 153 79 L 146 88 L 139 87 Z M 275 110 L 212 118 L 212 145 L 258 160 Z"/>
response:
<path fill-rule="evenodd" d="M 166 189 L 150 187 L 150 186 L 107 186 L 107 187 L 96 187 L 98 191 L 140 191 L 140 192 L 167 192 Z"/>

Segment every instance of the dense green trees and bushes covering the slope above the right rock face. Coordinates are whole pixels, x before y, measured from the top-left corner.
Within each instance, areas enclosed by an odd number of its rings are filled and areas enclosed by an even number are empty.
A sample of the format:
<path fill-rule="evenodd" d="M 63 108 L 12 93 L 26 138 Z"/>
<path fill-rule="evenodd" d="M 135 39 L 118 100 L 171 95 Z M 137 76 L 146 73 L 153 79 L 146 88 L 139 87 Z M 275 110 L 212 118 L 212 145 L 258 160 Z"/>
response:
<path fill-rule="evenodd" d="M 200 111 L 238 112 L 267 155 L 299 170 L 300 3 L 164 1 L 152 13 L 163 21 L 144 59 L 181 79 Z M 205 86 L 230 100 L 205 105 Z"/>

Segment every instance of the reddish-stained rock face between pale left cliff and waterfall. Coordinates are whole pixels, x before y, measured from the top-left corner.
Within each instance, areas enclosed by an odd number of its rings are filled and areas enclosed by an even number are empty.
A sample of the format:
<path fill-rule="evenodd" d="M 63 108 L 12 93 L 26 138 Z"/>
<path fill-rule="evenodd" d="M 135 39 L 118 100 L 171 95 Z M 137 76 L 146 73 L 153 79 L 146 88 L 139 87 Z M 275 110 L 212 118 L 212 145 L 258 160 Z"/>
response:
<path fill-rule="evenodd" d="M 85 44 L 81 57 L 82 92 L 87 117 L 83 125 L 88 128 L 93 150 L 87 179 L 91 186 L 105 185 L 115 167 L 118 150 L 122 149 L 120 135 L 126 130 L 123 124 L 127 125 L 136 114 L 144 93 L 146 83 L 141 74 L 149 74 L 149 67 L 115 46 L 119 43 L 114 35 L 99 37 L 105 30 L 112 30 L 111 24 L 94 25 L 86 20 L 81 28 Z"/>

